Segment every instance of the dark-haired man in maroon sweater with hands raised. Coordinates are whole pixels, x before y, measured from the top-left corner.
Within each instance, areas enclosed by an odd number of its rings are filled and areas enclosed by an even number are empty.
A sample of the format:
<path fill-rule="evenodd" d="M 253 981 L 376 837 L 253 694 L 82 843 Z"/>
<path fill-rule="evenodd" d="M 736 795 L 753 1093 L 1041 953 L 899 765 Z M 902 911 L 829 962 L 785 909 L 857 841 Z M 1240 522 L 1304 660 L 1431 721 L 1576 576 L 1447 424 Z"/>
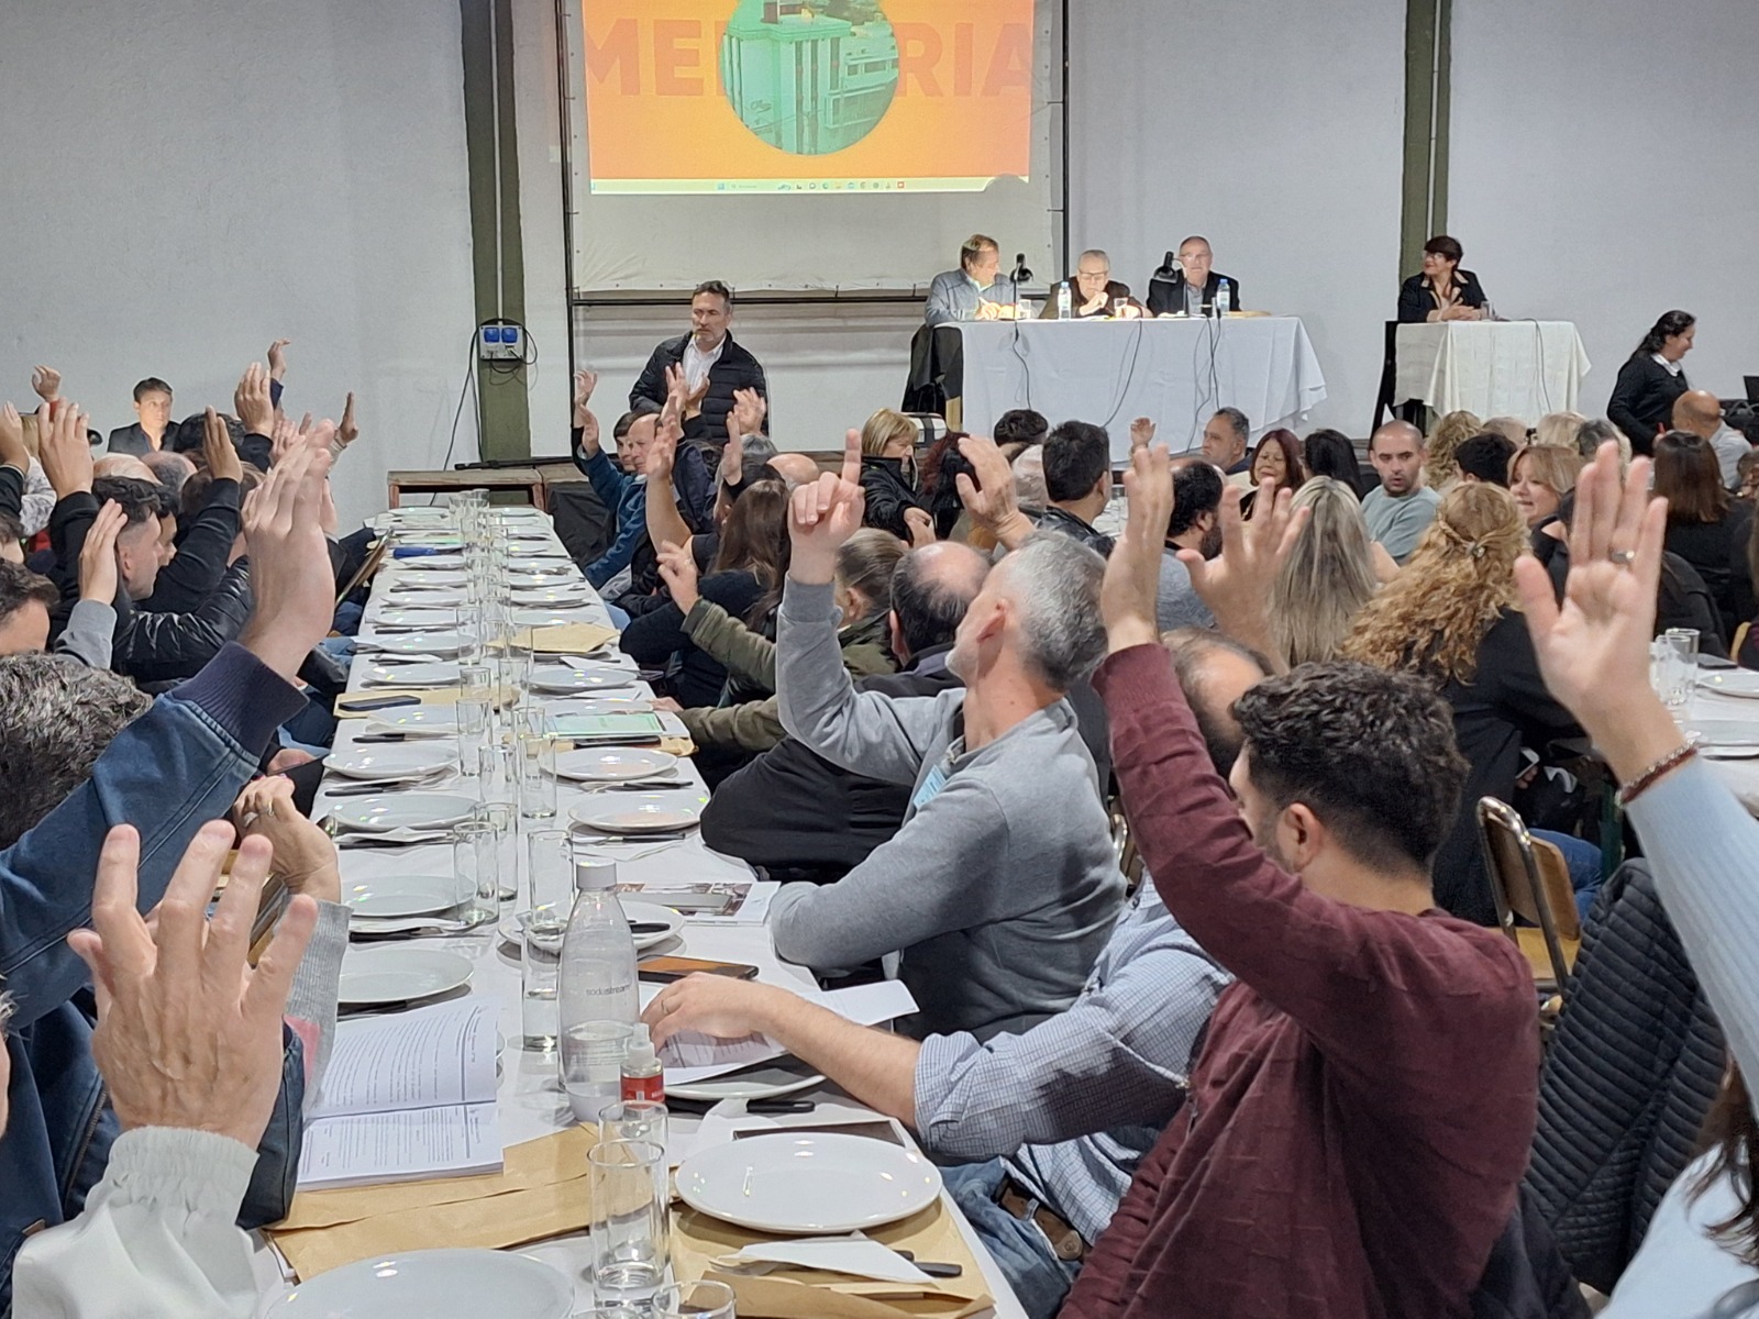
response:
<path fill-rule="evenodd" d="M 1230 797 L 1156 644 L 1164 452 L 1129 482 L 1094 686 L 1156 888 L 1238 980 L 1062 1315 L 1467 1315 L 1527 1166 L 1539 1039 L 1522 955 L 1430 899 L 1465 776 L 1448 707 L 1365 665 L 1261 682 Z M 1245 535 L 1228 510 L 1223 559 L 1193 565 L 1223 628 L 1261 608 L 1295 529 L 1288 494 Z"/>

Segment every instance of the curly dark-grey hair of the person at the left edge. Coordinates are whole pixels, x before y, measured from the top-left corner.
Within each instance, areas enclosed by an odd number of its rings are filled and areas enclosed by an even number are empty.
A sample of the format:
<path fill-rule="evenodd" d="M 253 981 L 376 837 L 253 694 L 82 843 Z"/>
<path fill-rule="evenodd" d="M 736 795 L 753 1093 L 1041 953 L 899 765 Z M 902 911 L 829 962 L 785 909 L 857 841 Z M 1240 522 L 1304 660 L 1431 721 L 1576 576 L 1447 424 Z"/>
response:
<path fill-rule="evenodd" d="M 90 779 L 111 739 L 151 703 L 125 677 L 69 656 L 0 660 L 0 848 Z"/>

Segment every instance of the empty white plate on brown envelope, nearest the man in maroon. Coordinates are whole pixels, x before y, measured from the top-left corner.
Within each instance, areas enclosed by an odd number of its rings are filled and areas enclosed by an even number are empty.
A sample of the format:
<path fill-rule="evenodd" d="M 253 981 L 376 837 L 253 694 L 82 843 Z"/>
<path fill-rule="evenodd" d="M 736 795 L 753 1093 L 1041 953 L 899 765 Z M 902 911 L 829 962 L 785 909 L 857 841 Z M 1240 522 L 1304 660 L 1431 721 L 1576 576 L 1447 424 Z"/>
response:
<path fill-rule="evenodd" d="M 777 1131 L 712 1145 L 677 1170 L 693 1210 L 767 1233 L 848 1233 L 908 1219 L 941 1194 L 916 1150 L 848 1133 Z"/>

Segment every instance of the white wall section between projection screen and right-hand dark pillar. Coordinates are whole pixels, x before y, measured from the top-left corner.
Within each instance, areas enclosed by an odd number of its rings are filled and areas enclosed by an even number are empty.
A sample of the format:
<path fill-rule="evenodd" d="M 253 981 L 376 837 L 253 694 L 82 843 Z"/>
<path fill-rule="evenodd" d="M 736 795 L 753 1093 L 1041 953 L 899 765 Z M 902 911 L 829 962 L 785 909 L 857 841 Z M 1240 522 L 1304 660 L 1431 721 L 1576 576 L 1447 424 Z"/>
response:
<path fill-rule="evenodd" d="M 1145 294 L 1168 248 L 1207 234 L 1249 308 L 1305 322 L 1328 390 L 1310 424 L 1365 434 L 1398 302 L 1402 0 L 1103 0 L 1078 16 L 1075 251 L 1105 248 Z"/>

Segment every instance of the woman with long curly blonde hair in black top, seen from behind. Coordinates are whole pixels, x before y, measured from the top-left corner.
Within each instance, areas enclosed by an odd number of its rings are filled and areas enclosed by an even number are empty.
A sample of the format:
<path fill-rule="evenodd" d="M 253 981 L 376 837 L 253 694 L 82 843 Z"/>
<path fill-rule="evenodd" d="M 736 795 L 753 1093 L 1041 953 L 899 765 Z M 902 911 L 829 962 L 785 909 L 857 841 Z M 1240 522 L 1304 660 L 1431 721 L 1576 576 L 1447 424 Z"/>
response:
<path fill-rule="evenodd" d="M 1523 744 L 1543 753 L 1553 739 L 1580 733 L 1546 691 L 1514 603 L 1514 561 L 1527 535 L 1507 491 L 1455 485 L 1404 572 L 1356 616 L 1344 642 L 1344 658 L 1423 674 L 1453 707 L 1471 772 L 1435 856 L 1435 904 L 1479 925 L 1493 925 L 1497 911 L 1478 849 L 1478 798 L 1514 797 Z"/>

